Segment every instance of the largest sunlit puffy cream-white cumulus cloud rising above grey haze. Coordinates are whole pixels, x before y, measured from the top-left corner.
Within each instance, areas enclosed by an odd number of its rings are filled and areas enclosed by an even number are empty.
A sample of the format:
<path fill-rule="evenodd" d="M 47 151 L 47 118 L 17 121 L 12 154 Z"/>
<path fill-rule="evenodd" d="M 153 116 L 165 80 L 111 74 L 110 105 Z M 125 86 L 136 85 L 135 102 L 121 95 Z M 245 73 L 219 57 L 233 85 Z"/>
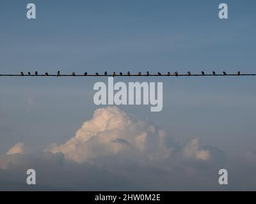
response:
<path fill-rule="evenodd" d="M 116 155 L 144 161 L 159 161 L 170 156 L 162 129 L 143 121 L 132 121 L 127 113 L 116 108 L 95 110 L 93 118 L 84 122 L 76 135 L 63 145 L 51 145 L 49 152 L 61 152 L 77 163 L 97 157 Z"/>

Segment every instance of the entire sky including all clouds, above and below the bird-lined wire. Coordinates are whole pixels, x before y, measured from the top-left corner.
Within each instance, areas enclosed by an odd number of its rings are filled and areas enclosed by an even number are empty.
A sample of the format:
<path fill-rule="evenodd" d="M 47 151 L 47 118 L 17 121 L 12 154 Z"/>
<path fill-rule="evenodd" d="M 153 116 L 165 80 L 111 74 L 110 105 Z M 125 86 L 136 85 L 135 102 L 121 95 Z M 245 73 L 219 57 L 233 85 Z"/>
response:
<path fill-rule="evenodd" d="M 255 1 L 28 3 L 0 2 L 1 74 L 255 73 Z M 256 189 L 254 77 L 121 80 L 163 82 L 163 110 L 95 105 L 107 78 L 1 77 L 0 190 Z"/>

